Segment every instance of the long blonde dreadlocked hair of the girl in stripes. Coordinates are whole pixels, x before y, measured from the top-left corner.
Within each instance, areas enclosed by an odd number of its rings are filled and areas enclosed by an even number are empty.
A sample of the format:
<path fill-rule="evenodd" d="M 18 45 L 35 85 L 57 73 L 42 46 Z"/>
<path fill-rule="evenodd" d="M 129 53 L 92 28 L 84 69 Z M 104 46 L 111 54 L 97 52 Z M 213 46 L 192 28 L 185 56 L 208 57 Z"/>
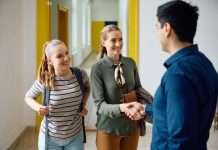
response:
<path fill-rule="evenodd" d="M 48 58 L 51 56 L 53 48 L 64 44 L 60 40 L 51 40 L 43 46 L 43 57 L 39 66 L 37 79 L 48 89 L 54 89 L 55 70 L 54 67 L 48 63 Z"/>

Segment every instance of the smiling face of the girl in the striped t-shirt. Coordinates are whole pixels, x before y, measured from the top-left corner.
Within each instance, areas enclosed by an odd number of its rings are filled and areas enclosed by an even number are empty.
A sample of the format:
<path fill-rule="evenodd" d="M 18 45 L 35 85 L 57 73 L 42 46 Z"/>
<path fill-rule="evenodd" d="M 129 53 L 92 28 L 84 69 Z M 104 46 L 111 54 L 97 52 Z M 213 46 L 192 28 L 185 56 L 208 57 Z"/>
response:
<path fill-rule="evenodd" d="M 52 49 L 49 63 L 54 67 L 55 72 L 66 73 L 70 67 L 70 55 L 65 44 L 59 44 Z"/>

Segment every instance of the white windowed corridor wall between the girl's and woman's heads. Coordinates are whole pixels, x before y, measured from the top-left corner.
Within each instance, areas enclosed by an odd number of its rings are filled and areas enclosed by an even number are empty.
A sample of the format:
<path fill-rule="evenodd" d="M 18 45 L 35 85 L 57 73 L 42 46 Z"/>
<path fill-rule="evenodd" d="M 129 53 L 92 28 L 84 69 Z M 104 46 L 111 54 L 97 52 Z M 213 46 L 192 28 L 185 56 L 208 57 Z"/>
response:
<path fill-rule="evenodd" d="M 73 35 L 71 41 L 72 55 L 73 55 L 73 65 L 78 66 L 91 52 L 91 44 L 90 44 L 91 4 L 90 4 L 90 0 L 72 0 L 72 1 L 73 1 L 72 4 L 73 5 L 73 14 L 72 14 Z M 86 26 L 84 24 L 86 24 Z M 89 36 L 89 37 L 85 38 L 84 36 Z"/>

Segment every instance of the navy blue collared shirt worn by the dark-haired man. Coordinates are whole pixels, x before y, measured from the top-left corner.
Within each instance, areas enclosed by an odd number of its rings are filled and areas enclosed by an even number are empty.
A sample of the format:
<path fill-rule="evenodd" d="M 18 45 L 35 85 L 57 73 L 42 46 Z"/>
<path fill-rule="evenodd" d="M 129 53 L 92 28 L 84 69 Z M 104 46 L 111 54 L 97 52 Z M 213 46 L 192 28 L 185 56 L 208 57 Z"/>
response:
<path fill-rule="evenodd" d="M 217 72 L 197 45 L 179 50 L 164 66 L 152 106 L 151 149 L 206 150 L 218 97 Z"/>

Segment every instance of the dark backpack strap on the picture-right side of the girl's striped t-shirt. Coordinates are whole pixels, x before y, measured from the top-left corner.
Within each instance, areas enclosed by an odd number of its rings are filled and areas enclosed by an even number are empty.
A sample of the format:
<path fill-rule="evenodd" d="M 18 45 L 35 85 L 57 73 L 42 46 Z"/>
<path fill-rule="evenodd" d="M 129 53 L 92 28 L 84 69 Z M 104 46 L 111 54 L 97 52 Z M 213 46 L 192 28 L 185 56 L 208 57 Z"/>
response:
<path fill-rule="evenodd" d="M 83 84 L 83 79 L 82 79 L 82 72 L 79 68 L 73 67 L 70 68 L 70 70 L 72 71 L 72 74 L 75 74 L 76 79 L 79 82 L 80 85 L 80 89 L 82 91 L 82 94 L 84 95 L 85 93 L 85 88 L 84 88 L 84 84 Z M 83 100 L 81 101 L 80 104 L 80 112 L 83 110 Z M 85 117 L 82 117 L 82 126 L 83 126 L 83 143 L 86 143 L 86 130 L 85 130 Z"/>

